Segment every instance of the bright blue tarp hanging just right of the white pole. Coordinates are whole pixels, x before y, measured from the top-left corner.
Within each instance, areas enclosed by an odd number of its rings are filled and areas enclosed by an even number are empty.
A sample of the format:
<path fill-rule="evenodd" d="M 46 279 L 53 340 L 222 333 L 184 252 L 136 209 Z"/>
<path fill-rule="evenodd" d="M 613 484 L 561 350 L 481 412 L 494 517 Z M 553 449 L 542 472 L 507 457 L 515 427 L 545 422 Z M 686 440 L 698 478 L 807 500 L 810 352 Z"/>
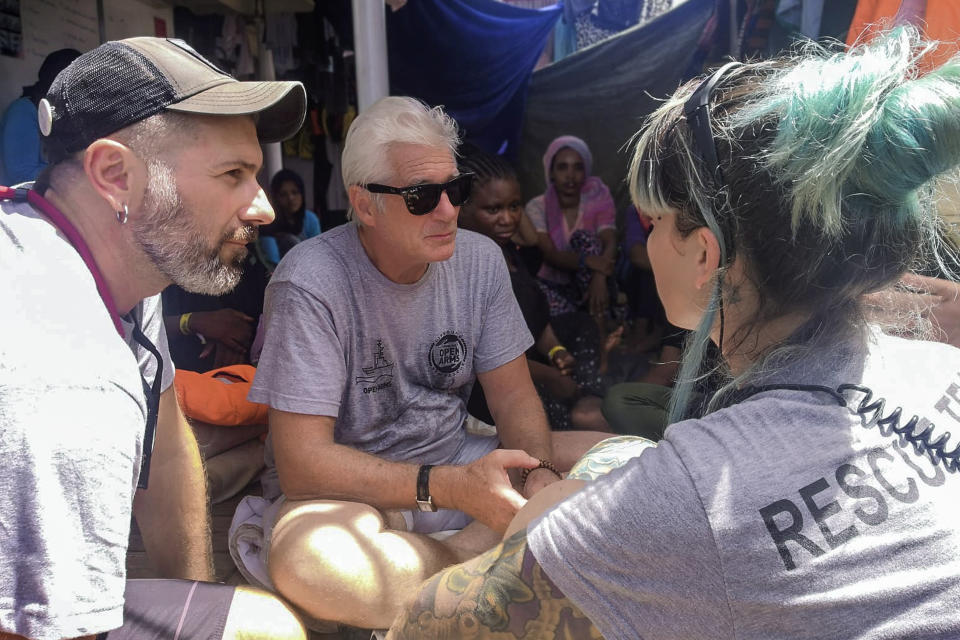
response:
<path fill-rule="evenodd" d="M 443 105 L 466 138 L 516 156 L 530 74 L 562 8 L 414 0 L 387 15 L 390 93 Z"/>

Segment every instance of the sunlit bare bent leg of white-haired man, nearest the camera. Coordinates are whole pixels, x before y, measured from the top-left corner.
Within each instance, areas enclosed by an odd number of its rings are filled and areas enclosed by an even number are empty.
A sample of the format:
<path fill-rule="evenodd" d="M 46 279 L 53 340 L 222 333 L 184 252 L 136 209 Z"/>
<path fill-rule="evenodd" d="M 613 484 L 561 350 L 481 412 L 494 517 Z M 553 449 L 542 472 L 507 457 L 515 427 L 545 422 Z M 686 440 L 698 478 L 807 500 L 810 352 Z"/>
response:
<path fill-rule="evenodd" d="M 365 504 L 289 501 L 273 529 L 270 578 L 314 618 L 385 628 L 424 580 L 499 542 L 481 526 L 471 524 L 439 541 L 390 530 L 383 515 Z"/>

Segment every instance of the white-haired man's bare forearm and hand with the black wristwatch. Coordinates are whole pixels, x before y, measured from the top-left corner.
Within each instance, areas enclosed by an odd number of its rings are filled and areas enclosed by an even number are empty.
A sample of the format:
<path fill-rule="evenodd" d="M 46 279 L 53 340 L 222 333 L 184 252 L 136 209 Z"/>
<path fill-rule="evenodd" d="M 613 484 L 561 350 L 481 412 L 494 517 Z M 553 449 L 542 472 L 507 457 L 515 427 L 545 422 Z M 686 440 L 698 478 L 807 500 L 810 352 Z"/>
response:
<path fill-rule="evenodd" d="M 529 377 L 529 376 L 528 376 Z M 346 500 L 383 509 L 416 508 L 419 465 L 390 462 L 334 442 L 335 419 L 270 410 L 270 431 L 280 485 L 293 500 Z M 503 531 L 525 500 L 506 470 L 532 467 L 522 451 L 498 449 L 464 466 L 442 465 L 430 474 L 430 493 L 441 508 L 458 509 Z"/>

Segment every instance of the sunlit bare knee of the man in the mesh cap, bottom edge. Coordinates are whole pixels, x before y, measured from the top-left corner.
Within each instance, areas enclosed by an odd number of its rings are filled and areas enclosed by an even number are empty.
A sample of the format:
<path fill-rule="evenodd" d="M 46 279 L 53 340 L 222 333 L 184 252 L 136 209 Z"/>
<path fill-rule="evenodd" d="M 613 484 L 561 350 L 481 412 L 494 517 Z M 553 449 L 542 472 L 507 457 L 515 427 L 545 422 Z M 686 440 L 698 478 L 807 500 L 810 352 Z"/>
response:
<path fill-rule="evenodd" d="M 252 587 L 237 587 L 223 640 L 306 640 L 300 619 L 282 600 Z"/>

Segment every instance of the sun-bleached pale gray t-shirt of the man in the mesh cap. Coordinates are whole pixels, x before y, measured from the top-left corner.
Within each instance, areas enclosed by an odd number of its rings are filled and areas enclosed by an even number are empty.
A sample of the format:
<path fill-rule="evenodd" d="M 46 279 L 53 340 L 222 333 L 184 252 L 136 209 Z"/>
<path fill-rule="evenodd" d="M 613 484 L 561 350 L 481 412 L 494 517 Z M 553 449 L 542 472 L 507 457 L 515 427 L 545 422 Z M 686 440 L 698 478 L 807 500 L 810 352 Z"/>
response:
<path fill-rule="evenodd" d="M 117 628 L 147 414 L 138 361 L 152 382 L 154 358 L 120 337 L 77 252 L 25 204 L 0 202 L 0 300 L 0 629 Z M 160 297 L 132 313 L 166 389 Z"/>

